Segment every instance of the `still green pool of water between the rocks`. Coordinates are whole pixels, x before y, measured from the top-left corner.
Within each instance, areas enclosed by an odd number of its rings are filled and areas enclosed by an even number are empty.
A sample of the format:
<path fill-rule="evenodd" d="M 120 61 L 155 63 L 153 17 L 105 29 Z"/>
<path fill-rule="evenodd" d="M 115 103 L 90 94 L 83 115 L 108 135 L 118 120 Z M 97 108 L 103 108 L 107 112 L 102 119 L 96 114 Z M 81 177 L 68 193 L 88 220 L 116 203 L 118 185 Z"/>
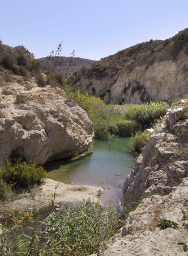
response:
<path fill-rule="evenodd" d="M 102 204 L 116 203 L 122 197 L 123 183 L 135 161 L 132 146 L 131 138 L 96 140 L 91 154 L 83 158 L 46 164 L 46 176 L 63 183 L 105 187 Z"/>

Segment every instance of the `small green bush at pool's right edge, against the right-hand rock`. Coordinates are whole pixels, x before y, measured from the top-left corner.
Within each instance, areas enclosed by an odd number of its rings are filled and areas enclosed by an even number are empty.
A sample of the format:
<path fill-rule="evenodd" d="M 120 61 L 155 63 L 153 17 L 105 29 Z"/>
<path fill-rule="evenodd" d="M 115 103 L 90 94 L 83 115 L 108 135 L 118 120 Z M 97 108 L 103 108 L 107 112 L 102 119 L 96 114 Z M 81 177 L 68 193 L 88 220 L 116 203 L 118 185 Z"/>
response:
<path fill-rule="evenodd" d="M 152 133 L 148 131 L 142 132 L 138 131 L 133 137 L 133 148 L 136 152 L 142 152 L 143 147 L 147 144 L 147 139 Z"/>

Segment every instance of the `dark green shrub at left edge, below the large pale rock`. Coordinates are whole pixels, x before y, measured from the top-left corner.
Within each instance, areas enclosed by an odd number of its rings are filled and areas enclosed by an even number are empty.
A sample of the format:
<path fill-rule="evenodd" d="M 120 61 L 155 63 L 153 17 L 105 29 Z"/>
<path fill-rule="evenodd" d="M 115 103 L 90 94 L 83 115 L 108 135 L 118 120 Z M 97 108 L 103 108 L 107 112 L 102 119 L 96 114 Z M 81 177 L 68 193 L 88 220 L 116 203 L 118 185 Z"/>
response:
<path fill-rule="evenodd" d="M 35 163 L 19 162 L 12 164 L 6 159 L 6 168 L 2 168 L 0 175 L 8 184 L 16 187 L 27 188 L 40 184 L 46 171 L 43 167 L 37 167 Z"/>

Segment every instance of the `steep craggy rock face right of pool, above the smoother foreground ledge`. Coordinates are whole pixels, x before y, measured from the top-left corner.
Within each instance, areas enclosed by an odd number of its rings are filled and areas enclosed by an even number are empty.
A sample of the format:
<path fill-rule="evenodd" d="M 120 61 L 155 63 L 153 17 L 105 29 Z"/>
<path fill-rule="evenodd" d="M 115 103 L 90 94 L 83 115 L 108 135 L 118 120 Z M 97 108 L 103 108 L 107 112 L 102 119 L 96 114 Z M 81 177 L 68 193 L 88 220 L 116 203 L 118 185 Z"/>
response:
<path fill-rule="evenodd" d="M 123 188 L 125 204 L 149 195 L 168 195 L 188 176 L 187 101 L 169 109 L 136 159 Z"/>

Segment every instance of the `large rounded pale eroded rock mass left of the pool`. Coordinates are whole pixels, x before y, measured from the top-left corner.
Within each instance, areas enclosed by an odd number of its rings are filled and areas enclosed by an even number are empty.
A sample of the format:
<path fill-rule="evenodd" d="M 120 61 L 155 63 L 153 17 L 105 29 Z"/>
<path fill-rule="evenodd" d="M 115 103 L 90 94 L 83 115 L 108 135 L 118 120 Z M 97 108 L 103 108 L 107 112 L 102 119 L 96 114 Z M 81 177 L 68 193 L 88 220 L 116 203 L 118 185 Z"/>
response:
<path fill-rule="evenodd" d="M 7 82 L 0 88 L 0 166 L 19 146 L 37 164 L 80 154 L 92 142 L 92 125 L 62 89 Z"/>

